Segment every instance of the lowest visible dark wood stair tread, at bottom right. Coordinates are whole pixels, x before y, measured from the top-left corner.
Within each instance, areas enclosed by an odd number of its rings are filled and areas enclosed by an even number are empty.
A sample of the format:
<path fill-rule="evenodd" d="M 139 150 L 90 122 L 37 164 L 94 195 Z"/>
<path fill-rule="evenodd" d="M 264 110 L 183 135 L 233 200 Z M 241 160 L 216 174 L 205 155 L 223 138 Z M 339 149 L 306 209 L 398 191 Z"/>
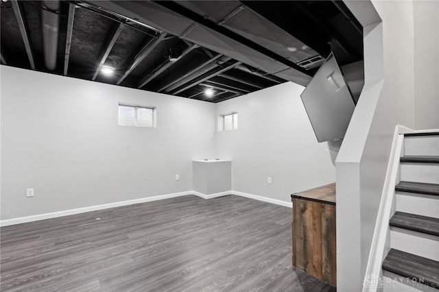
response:
<path fill-rule="evenodd" d="M 390 250 L 383 261 L 383 270 L 439 289 L 439 262 L 401 250 Z"/>

